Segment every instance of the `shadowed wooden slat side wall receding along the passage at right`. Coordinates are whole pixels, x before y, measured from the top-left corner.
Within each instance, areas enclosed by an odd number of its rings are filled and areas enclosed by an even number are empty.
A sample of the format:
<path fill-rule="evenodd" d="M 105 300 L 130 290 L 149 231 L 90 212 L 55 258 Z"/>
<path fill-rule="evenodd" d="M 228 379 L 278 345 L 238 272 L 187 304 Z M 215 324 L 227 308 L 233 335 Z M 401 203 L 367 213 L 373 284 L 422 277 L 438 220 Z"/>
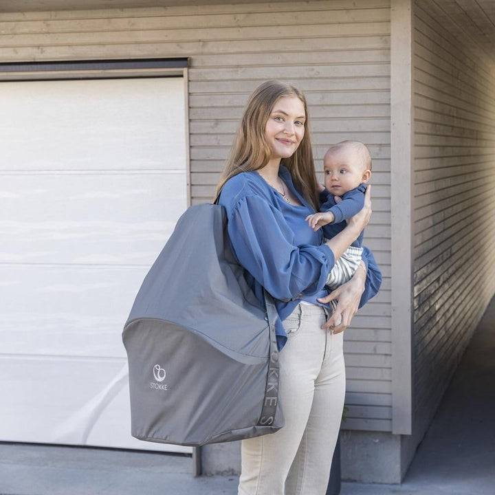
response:
<path fill-rule="evenodd" d="M 415 422 L 424 431 L 495 291 L 495 71 L 415 12 Z M 438 14 L 438 15 L 437 15 Z"/>

